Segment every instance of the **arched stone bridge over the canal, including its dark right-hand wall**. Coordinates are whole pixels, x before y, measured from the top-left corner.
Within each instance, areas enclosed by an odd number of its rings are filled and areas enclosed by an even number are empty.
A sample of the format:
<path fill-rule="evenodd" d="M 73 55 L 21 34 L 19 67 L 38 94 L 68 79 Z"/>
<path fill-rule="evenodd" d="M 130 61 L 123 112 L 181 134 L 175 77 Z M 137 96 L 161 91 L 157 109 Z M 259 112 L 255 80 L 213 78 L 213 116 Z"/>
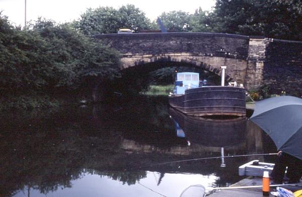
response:
<path fill-rule="evenodd" d="M 248 90 L 266 84 L 271 93 L 302 95 L 302 42 L 220 33 L 138 33 L 96 35 L 118 50 L 121 69 L 147 65 L 200 67 Z"/>

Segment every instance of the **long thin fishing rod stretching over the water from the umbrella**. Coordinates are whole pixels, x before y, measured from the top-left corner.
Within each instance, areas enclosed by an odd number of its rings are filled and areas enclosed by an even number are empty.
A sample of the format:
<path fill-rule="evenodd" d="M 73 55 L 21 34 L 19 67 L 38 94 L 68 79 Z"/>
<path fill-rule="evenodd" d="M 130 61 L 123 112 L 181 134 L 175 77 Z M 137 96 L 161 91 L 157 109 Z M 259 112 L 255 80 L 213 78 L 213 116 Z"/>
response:
<path fill-rule="evenodd" d="M 250 155 L 230 155 L 230 156 L 220 156 L 220 157 L 203 157 L 203 158 L 195 158 L 195 159 L 184 159 L 184 160 L 149 164 L 149 165 L 145 165 L 145 166 L 140 166 L 138 168 L 130 168 L 130 169 L 125 169 L 125 170 L 134 170 L 134 169 L 140 169 L 140 168 L 143 168 L 143 167 L 149 167 L 149 166 L 155 166 L 155 165 L 165 165 L 165 164 L 172 164 L 172 163 L 180 163 L 180 162 L 186 162 L 186 161 L 199 161 L 199 160 L 207 160 L 207 159 L 221 159 L 221 158 L 235 158 L 235 157 L 265 156 L 265 155 L 277 155 L 277 153 L 250 154 Z"/>

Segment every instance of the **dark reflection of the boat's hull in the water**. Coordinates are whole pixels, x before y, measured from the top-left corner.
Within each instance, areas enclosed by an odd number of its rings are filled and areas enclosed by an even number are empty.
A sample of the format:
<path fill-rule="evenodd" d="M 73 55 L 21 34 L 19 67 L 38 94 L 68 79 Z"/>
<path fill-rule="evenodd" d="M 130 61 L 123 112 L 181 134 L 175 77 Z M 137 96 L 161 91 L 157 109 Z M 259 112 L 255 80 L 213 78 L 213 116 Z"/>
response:
<path fill-rule="evenodd" d="M 207 119 L 190 117 L 173 108 L 169 114 L 174 120 L 176 133 L 190 143 L 209 147 L 238 147 L 245 141 L 247 119 Z"/>

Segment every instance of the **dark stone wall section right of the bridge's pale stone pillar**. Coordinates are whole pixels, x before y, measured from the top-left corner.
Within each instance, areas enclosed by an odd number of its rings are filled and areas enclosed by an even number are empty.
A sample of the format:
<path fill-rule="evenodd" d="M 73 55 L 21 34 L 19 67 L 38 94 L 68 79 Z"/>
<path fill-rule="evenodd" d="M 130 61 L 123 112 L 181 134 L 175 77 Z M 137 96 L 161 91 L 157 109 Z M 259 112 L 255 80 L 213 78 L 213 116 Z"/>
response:
<path fill-rule="evenodd" d="M 273 39 L 267 46 L 263 79 L 272 93 L 302 96 L 302 42 Z"/>

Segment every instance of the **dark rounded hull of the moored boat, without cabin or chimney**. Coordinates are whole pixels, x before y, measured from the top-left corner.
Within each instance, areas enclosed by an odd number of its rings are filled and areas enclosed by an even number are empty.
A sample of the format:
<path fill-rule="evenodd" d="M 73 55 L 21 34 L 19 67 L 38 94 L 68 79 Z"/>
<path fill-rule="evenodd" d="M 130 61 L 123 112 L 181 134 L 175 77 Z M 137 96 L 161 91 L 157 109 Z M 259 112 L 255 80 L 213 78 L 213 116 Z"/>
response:
<path fill-rule="evenodd" d="M 246 116 L 245 89 L 203 86 L 169 96 L 171 107 L 190 116 Z"/>

